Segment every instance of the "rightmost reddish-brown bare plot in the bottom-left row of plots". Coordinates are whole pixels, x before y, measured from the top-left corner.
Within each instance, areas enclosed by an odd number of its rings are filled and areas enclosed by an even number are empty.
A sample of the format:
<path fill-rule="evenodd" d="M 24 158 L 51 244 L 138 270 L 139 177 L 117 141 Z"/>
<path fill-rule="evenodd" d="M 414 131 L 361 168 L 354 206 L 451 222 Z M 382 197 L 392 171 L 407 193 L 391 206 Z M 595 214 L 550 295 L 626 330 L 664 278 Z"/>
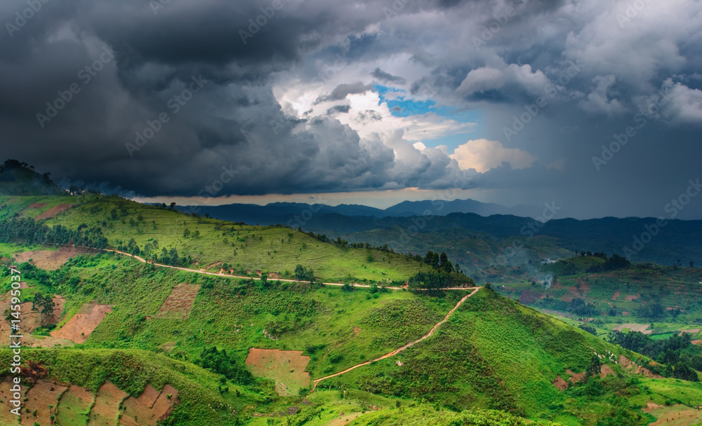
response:
<path fill-rule="evenodd" d="M 171 414 L 175 404 L 178 404 L 178 390 L 173 386 L 166 385 L 163 392 L 159 392 L 147 385 L 140 397 L 124 400 L 119 426 L 156 426 L 159 420 Z"/>

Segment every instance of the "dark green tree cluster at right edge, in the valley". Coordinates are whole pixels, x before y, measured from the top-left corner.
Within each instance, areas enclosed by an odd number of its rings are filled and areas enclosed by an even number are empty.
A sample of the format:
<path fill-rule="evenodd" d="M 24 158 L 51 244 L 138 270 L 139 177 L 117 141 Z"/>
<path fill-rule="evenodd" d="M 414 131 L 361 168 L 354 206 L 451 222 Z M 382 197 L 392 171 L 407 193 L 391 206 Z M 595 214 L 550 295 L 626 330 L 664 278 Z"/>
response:
<path fill-rule="evenodd" d="M 682 336 L 675 334 L 665 340 L 654 340 L 639 331 L 627 334 L 612 331 L 607 340 L 665 365 L 654 371 L 656 373 L 691 382 L 699 381 L 696 371 L 702 371 L 702 357 L 685 353 L 691 347 L 690 335 L 687 333 L 683 333 Z M 655 369 L 655 366 L 652 369 Z"/>

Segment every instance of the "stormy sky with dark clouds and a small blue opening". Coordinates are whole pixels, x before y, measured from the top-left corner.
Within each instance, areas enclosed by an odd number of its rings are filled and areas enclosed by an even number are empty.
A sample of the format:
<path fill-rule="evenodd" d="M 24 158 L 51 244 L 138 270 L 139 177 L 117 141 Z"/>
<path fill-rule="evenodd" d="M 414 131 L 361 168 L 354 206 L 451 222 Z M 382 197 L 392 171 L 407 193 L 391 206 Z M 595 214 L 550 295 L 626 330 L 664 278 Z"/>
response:
<path fill-rule="evenodd" d="M 4 0 L 0 22 L 0 157 L 64 186 L 702 219 L 700 1 Z"/>

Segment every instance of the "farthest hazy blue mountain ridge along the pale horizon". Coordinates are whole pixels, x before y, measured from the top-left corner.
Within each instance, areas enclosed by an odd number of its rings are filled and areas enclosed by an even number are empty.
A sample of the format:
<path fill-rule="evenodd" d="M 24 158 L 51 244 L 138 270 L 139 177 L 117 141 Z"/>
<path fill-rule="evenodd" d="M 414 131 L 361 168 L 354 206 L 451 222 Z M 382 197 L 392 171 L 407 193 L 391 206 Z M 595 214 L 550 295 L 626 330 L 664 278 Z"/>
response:
<path fill-rule="evenodd" d="M 376 209 L 357 204 L 330 205 L 308 205 L 303 202 L 273 202 L 268 205 L 255 204 L 228 204 L 218 206 L 177 206 L 183 212 L 194 212 L 201 215 L 209 214 L 217 219 L 246 222 L 247 224 L 288 224 L 288 222 L 298 222 L 298 226 L 310 221 L 310 217 L 322 214 L 340 214 L 345 217 L 412 217 L 412 216 L 446 216 L 451 213 L 475 213 L 483 217 L 493 214 L 511 214 L 519 217 L 537 217 L 541 214 L 538 207 L 529 205 L 517 205 L 515 207 L 504 207 L 492 202 L 480 202 L 476 200 L 423 200 L 423 201 L 403 201 L 387 209 Z M 295 219 L 295 217 L 300 219 Z M 297 227 L 291 224 L 293 227 Z"/>

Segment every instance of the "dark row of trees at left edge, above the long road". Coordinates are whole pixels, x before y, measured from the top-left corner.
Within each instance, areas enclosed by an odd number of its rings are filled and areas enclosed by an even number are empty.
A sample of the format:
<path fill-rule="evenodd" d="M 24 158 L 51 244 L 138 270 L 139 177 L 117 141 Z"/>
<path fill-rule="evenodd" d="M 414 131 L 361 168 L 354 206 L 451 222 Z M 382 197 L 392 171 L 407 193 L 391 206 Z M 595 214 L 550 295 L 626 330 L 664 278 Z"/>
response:
<path fill-rule="evenodd" d="M 28 217 L 15 217 L 0 222 L 0 242 L 77 245 L 94 249 L 107 247 L 107 237 L 102 235 L 102 228 L 97 226 L 81 224 L 75 230 L 63 225 L 49 228 L 42 221 Z"/>

